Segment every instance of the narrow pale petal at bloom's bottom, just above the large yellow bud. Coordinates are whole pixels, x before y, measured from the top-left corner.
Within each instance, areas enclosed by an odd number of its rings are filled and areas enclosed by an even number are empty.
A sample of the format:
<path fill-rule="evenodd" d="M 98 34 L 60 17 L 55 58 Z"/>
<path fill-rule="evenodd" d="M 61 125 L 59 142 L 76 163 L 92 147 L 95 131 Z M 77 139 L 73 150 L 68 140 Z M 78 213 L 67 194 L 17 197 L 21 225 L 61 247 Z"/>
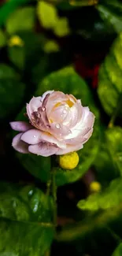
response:
<path fill-rule="evenodd" d="M 67 145 L 66 149 L 59 149 L 56 154 L 57 155 L 68 154 L 73 151 L 81 150 L 82 148 L 83 148 L 82 143 L 79 143 L 77 145 Z"/>

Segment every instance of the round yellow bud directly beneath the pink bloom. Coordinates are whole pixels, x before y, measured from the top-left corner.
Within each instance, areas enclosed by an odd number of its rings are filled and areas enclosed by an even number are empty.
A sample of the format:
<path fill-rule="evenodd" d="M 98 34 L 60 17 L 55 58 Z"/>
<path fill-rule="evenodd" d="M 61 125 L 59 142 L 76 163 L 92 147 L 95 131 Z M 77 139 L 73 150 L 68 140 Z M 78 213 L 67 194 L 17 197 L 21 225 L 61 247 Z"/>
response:
<path fill-rule="evenodd" d="M 79 163 L 79 155 L 76 152 L 64 154 L 58 158 L 62 169 L 74 169 Z"/>

